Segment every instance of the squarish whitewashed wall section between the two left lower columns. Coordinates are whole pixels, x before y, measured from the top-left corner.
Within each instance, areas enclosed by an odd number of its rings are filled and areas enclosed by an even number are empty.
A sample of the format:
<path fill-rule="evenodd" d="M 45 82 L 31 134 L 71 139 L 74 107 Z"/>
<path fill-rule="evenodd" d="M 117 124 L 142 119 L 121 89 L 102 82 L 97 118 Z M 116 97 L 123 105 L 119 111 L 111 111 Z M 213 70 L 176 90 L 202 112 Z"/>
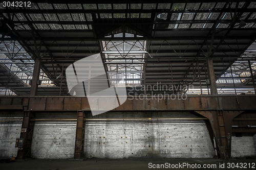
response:
<path fill-rule="evenodd" d="M 76 122 L 36 122 L 31 156 L 33 158 L 74 158 Z"/>

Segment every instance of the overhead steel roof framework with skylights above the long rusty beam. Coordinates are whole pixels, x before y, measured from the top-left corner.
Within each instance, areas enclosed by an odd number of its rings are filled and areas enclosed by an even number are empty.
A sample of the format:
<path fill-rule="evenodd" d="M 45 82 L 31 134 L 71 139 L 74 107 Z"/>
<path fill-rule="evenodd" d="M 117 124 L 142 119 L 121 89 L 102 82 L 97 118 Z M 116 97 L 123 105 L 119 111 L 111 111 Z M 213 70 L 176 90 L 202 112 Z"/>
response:
<path fill-rule="evenodd" d="M 96 53 L 109 76 L 116 70 L 126 74 L 128 89 L 161 82 L 193 85 L 183 91 L 187 94 L 210 94 L 210 58 L 215 94 L 255 93 L 255 2 L 72 3 L 0 7 L 1 54 L 7 56 L 1 59 L 2 94 L 69 95 L 66 68 Z M 124 49 L 104 50 L 113 42 L 145 43 L 127 50 L 122 65 L 119 57 L 111 57 L 111 63 L 109 57 L 121 56 Z M 141 53 L 143 61 L 131 57 Z M 40 69 L 33 68 L 36 60 Z M 33 70 L 41 72 L 34 81 Z"/>

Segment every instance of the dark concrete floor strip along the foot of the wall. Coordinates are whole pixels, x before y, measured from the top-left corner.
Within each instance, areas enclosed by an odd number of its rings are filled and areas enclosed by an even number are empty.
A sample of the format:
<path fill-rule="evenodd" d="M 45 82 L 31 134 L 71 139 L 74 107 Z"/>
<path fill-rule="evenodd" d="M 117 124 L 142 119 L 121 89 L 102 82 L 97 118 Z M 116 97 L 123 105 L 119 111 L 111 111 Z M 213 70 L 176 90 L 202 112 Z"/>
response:
<path fill-rule="evenodd" d="M 170 164 L 170 168 L 149 168 L 148 164 Z M 178 168 L 172 168 L 172 164 L 182 164 L 187 163 L 190 164 L 191 168 L 184 166 L 179 166 Z M 1 170 L 55 170 L 55 169 L 72 169 L 72 170 L 114 170 L 114 169 L 244 169 L 245 167 L 239 168 L 228 168 L 228 163 L 231 165 L 239 165 L 244 166 L 247 165 L 246 169 L 256 169 L 256 160 L 255 159 L 231 159 L 228 161 L 218 160 L 213 158 L 189 158 L 189 159 L 161 159 L 161 158 L 138 158 L 138 159 L 99 159 L 99 158 L 92 158 L 86 159 L 84 161 L 75 161 L 69 159 L 32 159 L 28 161 L 15 161 L 10 163 L 0 163 Z M 233 163 L 233 164 L 232 164 Z M 243 164 L 241 164 L 243 163 Z M 254 164 L 254 168 L 250 166 Z M 197 164 L 197 165 L 196 165 Z M 199 168 L 198 164 L 201 165 Z M 203 168 L 203 164 L 207 164 L 208 166 L 216 165 L 215 167 Z M 225 164 L 225 168 L 221 168 L 220 164 Z M 195 166 L 194 168 L 193 165 Z M 176 165 L 178 166 L 178 165 Z"/>

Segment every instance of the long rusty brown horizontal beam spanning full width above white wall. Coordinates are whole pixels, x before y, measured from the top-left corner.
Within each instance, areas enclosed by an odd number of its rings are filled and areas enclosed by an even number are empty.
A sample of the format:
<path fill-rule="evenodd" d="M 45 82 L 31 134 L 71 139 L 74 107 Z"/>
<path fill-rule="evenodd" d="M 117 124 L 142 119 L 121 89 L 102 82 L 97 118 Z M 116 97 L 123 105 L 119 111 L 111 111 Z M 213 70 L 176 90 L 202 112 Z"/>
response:
<path fill-rule="evenodd" d="M 121 97 L 120 97 L 121 98 Z M 142 97 L 141 97 L 142 98 Z M 108 108 L 115 98 L 98 98 L 98 109 Z M 121 105 L 112 111 L 174 111 L 174 110 L 256 110 L 256 96 L 187 96 L 183 95 L 173 98 L 162 98 L 148 95 L 147 98 L 139 99 L 129 97 Z M 33 111 L 90 111 L 87 98 L 73 96 L 36 96 L 36 97 L 1 97 L 0 109 L 20 105 L 28 106 Z M 4 107 L 4 108 L 3 108 Z"/>

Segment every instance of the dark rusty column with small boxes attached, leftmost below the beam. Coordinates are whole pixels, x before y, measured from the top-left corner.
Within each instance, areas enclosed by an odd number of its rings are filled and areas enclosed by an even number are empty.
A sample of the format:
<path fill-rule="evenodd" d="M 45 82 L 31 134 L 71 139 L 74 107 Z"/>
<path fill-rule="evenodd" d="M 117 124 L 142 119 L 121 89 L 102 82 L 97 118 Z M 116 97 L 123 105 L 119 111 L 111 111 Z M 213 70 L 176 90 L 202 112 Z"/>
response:
<path fill-rule="evenodd" d="M 31 117 L 34 117 L 32 111 L 25 110 L 18 144 L 18 159 L 26 159 L 31 156 L 31 144 L 35 125 L 34 122 L 30 121 Z"/>

